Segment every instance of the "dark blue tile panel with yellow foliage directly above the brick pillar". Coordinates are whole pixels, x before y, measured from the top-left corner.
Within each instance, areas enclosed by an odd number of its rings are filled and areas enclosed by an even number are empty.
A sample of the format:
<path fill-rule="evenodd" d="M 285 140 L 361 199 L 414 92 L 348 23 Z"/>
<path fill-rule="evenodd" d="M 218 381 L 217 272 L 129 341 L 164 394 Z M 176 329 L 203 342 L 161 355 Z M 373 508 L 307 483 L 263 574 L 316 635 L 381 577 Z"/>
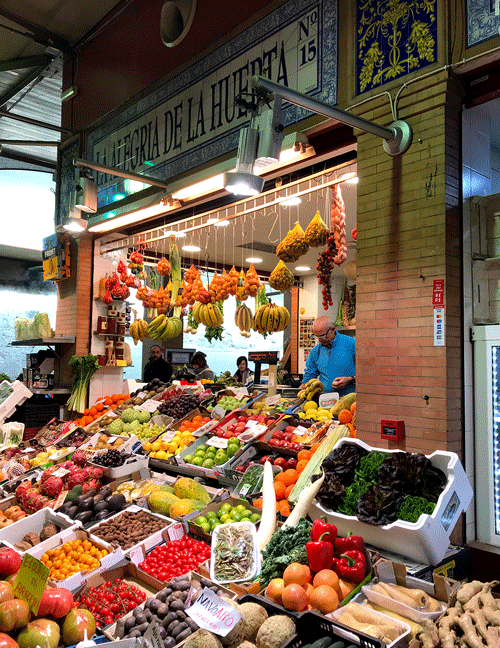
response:
<path fill-rule="evenodd" d="M 436 57 L 436 0 L 358 0 L 358 94 L 424 68 Z"/>

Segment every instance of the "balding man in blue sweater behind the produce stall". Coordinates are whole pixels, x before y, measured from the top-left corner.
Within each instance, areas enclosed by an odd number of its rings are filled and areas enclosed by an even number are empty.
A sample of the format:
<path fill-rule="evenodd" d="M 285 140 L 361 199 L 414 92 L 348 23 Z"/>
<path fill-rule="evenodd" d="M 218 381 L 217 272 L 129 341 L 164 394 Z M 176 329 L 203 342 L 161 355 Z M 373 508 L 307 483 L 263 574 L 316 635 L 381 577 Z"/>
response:
<path fill-rule="evenodd" d="M 302 379 L 303 388 L 311 378 L 319 378 L 325 392 L 345 396 L 356 391 L 356 340 L 335 330 L 326 315 L 314 320 L 313 334 L 318 344 L 311 349 Z"/>

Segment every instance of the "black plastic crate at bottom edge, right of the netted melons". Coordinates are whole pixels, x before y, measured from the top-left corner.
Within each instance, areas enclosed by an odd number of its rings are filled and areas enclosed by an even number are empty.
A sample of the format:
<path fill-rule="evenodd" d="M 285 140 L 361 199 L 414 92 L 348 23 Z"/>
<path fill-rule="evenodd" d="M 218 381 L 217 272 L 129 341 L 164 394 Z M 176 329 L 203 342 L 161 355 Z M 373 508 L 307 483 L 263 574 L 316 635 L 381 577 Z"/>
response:
<path fill-rule="evenodd" d="M 361 646 L 362 648 L 385 648 L 385 643 L 374 637 L 359 632 L 317 612 L 302 612 L 297 619 L 297 634 L 283 648 L 302 648 L 322 637 L 331 637 L 343 641 L 345 648 Z"/>

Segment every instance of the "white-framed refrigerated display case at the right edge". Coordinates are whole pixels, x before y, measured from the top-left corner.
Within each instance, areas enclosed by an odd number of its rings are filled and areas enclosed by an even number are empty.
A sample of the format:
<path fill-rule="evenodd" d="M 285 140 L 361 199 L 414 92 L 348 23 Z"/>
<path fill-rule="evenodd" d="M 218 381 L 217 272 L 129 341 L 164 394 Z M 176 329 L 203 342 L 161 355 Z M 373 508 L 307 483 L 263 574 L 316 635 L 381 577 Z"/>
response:
<path fill-rule="evenodd" d="M 475 326 L 476 536 L 500 547 L 500 324 Z"/>

